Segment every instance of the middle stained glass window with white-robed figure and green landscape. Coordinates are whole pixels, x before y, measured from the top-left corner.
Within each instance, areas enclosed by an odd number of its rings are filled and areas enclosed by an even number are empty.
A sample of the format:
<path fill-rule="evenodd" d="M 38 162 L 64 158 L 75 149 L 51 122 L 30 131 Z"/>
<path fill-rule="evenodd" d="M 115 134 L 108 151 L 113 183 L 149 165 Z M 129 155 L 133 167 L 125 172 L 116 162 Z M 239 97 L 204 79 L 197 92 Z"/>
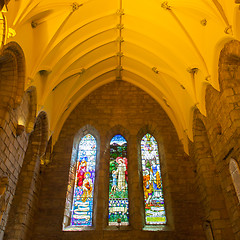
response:
<path fill-rule="evenodd" d="M 109 214 L 110 226 L 128 225 L 128 161 L 127 141 L 116 135 L 110 142 L 109 167 Z"/>

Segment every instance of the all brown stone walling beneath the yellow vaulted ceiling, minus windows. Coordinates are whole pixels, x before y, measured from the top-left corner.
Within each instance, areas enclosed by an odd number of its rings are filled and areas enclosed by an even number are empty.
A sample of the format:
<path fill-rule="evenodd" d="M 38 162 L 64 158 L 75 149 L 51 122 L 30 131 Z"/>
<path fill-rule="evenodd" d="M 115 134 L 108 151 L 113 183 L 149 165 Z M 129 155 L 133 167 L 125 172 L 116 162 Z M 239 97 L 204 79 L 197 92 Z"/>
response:
<path fill-rule="evenodd" d="M 35 117 L 36 92 L 23 92 L 23 58 L 15 50 L 5 51 L 11 57 L 0 71 L 0 85 L 6 85 L 0 90 L 0 239 L 240 239 L 239 199 L 229 171 L 231 159 L 239 165 L 240 157 L 238 42 L 220 54 L 220 91 L 207 87 L 206 116 L 194 112 L 189 155 L 160 105 L 124 81 L 84 98 L 49 150 L 47 114 Z M 20 120 L 26 127 L 19 134 Z M 88 132 L 98 143 L 93 227 L 63 231 L 73 144 Z M 140 140 L 147 132 L 159 146 L 168 220 L 155 228 L 145 226 L 143 214 Z M 115 134 L 126 138 L 129 160 L 130 226 L 120 229 L 107 226 L 109 142 Z"/>

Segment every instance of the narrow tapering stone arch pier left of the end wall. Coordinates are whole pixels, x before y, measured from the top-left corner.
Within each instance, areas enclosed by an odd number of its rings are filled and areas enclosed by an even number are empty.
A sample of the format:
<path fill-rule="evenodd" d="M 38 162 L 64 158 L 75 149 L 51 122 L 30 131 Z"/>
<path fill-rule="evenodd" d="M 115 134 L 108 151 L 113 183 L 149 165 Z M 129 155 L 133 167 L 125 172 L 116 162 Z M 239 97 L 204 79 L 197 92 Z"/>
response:
<path fill-rule="evenodd" d="M 41 112 L 29 137 L 16 193 L 11 205 L 4 239 L 30 239 L 33 215 L 37 207 L 40 183 L 40 158 L 48 139 L 48 120 Z"/>

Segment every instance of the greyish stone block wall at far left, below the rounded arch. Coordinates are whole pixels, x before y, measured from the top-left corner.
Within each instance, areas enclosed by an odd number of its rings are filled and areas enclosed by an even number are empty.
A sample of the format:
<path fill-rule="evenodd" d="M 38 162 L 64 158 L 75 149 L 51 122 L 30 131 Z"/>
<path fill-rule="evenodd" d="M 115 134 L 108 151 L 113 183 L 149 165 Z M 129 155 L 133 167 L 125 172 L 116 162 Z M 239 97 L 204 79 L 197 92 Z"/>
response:
<path fill-rule="evenodd" d="M 0 178 L 7 177 L 8 179 L 5 195 L 1 196 L 1 200 L 5 202 L 2 203 L 4 206 L 1 206 L 3 215 L 0 219 L 0 230 L 2 234 L 6 226 L 8 212 L 15 194 L 18 176 L 28 144 L 26 132 L 23 132 L 20 136 L 16 135 L 18 117 L 25 116 L 21 113 L 27 112 L 27 105 L 28 103 L 22 104 L 18 109 L 11 110 L 8 117 L 3 121 L 2 127 L 0 127 Z"/>

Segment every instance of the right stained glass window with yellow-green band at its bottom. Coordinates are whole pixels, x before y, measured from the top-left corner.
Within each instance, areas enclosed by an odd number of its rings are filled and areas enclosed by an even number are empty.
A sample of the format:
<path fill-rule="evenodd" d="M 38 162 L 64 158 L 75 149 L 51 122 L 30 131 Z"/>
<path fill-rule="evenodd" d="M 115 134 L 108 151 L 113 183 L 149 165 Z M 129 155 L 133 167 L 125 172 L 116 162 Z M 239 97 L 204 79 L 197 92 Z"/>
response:
<path fill-rule="evenodd" d="M 146 224 L 166 223 L 162 178 L 158 145 L 155 138 L 147 133 L 141 140 L 143 191 Z"/>

